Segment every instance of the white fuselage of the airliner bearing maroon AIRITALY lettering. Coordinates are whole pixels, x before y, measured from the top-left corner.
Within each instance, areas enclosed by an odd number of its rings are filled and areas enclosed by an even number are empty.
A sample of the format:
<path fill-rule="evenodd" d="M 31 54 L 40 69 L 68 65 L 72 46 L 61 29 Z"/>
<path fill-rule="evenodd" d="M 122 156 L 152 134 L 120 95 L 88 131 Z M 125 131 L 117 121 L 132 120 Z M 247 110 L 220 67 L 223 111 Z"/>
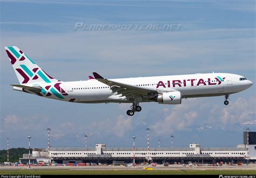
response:
<path fill-rule="evenodd" d="M 170 75 L 111 79 L 133 86 L 156 89 L 159 93 L 180 91 L 182 98 L 230 95 L 252 86 L 243 76 L 227 73 Z M 111 87 L 91 79 L 87 81 L 62 82 L 60 87 L 68 94 L 64 101 L 74 99 L 78 103 L 132 103 L 132 100 L 113 95 Z M 49 98 L 49 97 L 48 97 Z M 50 98 L 58 99 L 55 96 Z M 142 102 L 152 102 L 143 99 Z"/>

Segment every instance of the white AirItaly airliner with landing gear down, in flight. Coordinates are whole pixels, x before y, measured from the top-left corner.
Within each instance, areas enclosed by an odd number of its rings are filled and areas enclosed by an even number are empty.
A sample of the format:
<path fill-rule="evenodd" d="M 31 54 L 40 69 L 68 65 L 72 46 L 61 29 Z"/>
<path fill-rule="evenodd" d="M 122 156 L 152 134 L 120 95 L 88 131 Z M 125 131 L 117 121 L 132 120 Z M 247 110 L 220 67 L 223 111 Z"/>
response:
<path fill-rule="evenodd" d="M 5 47 L 19 84 L 14 90 L 75 103 L 132 103 L 127 115 L 142 111 L 139 103 L 181 104 L 183 98 L 225 96 L 253 85 L 244 76 L 228 73 L 106 79 L 96 72 L 87 81 L 54 79 L 16 46 Z"/>

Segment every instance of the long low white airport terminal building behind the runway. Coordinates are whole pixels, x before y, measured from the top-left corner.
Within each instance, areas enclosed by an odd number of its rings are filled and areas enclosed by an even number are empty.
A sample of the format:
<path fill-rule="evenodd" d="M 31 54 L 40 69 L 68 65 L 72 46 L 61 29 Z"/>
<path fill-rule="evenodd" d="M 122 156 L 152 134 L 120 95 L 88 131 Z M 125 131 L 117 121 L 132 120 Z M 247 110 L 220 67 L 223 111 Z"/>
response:
<path fill-rule="evenodd" d="M 136 163 L 142 162 L 169 162 L 198 163 L 217 162 L 250 162 L 256 161 L 256 132 L 250 132 L 249 147 L 247 150 L 247 132 L 244 132 L 244 144 L 237 147 L 200 147 L 199 144 L 190 144 L 187 148 L 108 148 L 105 144 L 96 144 L 95 148 L 50 148 L 50 160 L 55 163 L 107 163 L 133 162 L 133 153 Z M 247 154 L 249 153 L 249 155 Z M 33 149 L 31 162 L 48 162 L 48 148 Z M 28 162 L 28 154 L 20 158 L 21 163 Z"/>

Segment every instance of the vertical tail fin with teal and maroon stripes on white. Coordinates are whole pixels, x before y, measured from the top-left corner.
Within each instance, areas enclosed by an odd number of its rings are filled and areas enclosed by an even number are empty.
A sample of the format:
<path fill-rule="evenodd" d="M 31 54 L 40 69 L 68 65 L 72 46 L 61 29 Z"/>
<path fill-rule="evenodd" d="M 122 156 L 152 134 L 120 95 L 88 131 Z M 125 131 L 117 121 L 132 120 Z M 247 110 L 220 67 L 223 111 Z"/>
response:
<path fill-rule="evenodd" d="M 35 82 L 52 83 L 58 82 L 36 65 L 25 53 L 16 46 L 4 47 L 9 56 L 11 65 L 18 77 L 20 84 L 31 84 Z"/>

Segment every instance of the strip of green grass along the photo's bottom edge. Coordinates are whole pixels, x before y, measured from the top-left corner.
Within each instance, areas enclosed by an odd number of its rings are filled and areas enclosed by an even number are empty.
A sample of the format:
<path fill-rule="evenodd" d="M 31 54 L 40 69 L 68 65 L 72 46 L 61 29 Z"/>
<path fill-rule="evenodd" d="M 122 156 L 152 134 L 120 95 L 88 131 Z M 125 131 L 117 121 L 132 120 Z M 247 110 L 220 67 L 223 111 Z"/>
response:
<path fill-rule="evenodd" d="M 256 170 L 0 170 L 0 175 L 256 175 Z"/>

